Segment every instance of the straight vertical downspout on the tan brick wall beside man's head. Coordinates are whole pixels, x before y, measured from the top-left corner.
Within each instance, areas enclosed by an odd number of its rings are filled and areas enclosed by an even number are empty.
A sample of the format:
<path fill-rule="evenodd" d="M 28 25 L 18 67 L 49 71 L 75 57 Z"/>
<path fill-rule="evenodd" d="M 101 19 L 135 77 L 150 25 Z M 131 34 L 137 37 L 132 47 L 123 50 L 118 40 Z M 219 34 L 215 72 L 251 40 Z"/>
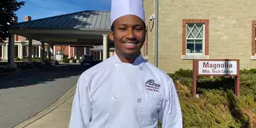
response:
<path fill-rule="evenodd" d="M 154 45 L 154 65 L 158 67 L 158 0 L 155 0 L 155 45 Z"/>

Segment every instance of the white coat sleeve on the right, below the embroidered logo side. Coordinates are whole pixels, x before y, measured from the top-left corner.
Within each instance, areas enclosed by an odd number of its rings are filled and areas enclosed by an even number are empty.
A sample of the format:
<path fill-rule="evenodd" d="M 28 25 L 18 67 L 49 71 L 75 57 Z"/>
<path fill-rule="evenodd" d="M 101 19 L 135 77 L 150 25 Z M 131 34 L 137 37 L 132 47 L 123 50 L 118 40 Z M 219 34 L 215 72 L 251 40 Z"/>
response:
<path fill-rule="evenodd" d="M 159 121 L 162 122 L 162 128 L 182 128 L 181 106 L 172 79 L 168 80 L 167 92 L 167 99 L 163 101 L 162 110 L 159 113 Z"/>

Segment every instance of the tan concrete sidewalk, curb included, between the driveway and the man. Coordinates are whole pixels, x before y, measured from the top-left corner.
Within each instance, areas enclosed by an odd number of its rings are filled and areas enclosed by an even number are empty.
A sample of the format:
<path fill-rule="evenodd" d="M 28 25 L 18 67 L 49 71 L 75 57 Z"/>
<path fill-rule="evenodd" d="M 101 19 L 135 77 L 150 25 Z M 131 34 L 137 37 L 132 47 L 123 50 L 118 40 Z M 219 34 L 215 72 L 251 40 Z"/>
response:
<path fill-rule="evenodd" d="M 68 128 L 76 85 L 58 101 L 14 128 Z"/>

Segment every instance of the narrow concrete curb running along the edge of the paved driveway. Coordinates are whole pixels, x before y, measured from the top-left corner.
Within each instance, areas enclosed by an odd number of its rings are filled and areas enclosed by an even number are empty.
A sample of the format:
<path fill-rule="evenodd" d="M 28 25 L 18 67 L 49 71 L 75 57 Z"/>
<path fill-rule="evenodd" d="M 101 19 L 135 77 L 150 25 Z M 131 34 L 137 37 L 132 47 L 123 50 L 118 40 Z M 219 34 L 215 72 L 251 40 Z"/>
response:
<path fill-rule="evenodd" d="M 48 106 L 44 110 L 40 111 L 36 115 L 32 116 L 31 118 L 27 119 L 26 121 L 21 122 L 20 124 L 17 124 L 13 128 L 24 128 L 29 126 L 29 124 L 34 123 L 35 121 L 39 120 L 43 116 L 46 116 L 48 113 L 52 112 L 56 108 L 58 108 L 60 105 L 62 105 L 64 102 L 67 101 L 70 97 L 72 97 L 73 94 L 75 94 L 77 84 L 72 86 L 71 89 L 69 89 L 62 97 L 60 97 L 56 102 L 54 102 L 52 105 Z"/>

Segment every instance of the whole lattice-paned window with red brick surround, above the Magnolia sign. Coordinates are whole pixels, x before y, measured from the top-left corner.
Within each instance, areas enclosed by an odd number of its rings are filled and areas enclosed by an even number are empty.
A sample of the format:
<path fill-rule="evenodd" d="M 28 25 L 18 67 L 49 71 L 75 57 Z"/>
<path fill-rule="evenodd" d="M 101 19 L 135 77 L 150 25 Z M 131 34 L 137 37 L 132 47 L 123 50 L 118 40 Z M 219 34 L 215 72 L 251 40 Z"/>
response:
<path fill-rule="evenodd" d="M 183 20 L 181 59 L 208 59 L 209 20 Z"/>

